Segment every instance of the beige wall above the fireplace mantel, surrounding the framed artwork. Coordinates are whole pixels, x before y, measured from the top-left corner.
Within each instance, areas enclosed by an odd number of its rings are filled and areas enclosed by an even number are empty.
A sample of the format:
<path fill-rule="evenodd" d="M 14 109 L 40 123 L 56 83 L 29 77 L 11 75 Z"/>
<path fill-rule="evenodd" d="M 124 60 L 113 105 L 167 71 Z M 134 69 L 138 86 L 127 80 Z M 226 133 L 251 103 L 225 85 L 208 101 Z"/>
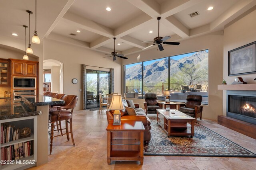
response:
<path fill-rule="evenodd" d="M 253 80 L 256 74 L 228 76 L 228 51 L 256 41 L 256 7 L 224 28 L 223 51 L 223 78 L 227 84 L 234 82 L 236 77 L 242 77 L 247 83 L 256 83 Z M 226 90 L 223 92 L 223 115 L 226 115 Z"/>

